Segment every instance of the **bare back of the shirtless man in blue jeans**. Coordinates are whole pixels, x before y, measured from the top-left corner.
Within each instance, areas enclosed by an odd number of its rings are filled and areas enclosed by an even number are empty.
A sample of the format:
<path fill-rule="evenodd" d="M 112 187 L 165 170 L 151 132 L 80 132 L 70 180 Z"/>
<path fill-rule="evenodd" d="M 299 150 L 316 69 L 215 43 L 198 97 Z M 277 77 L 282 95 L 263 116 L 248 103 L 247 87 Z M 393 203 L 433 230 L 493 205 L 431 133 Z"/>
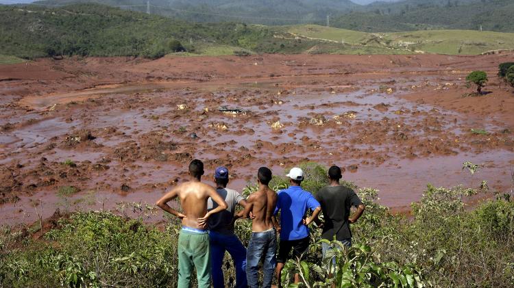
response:
<path fill-rule="evenodd" d="M 262 187 L 249 196 L 247 202 L 252 204 L 252 231 L 261 232 L 273 228 L 273 212 L 277 206 L 277 194 L 269 187 Z"/>

